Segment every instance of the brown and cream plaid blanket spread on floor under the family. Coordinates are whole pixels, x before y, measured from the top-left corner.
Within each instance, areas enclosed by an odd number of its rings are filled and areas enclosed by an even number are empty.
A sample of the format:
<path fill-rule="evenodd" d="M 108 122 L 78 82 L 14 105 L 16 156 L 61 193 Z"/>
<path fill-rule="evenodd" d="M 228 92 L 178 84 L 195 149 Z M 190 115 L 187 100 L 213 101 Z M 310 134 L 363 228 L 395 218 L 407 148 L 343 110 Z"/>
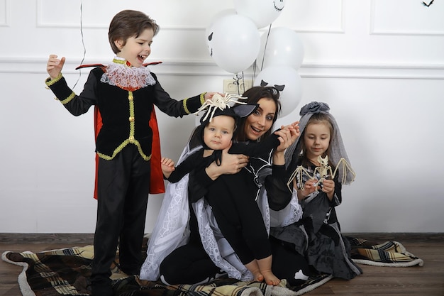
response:
<path fill-rule="evenodd" d="M 357 263 L 382 266 L 423 265 L 423 261 L 396 242 L 372 244 L 357 238 L 348 238 L 352 244 L 352 257 Z M 145 250 L 146 251 L 146 250 Z M 91 295 L 91 262 L 93 247 L 62 248 L 32 253 L 6 251 L 1 258 L 7 263 L 23 267 L 18 284 L 23 296 Z M 117 296 L 296 296 L 309 292 L 331 280 L 331 275 L 313 275 L 306 283 L 296 287 L 282 280 L 278 286 L 265 283 L 239 282 L 231 278 L 218 278 L 206 285 L 164 285 L 160 281 L 148 282 L 137 276 L 128 276 L 111 266 L 113 290 Z"/>

